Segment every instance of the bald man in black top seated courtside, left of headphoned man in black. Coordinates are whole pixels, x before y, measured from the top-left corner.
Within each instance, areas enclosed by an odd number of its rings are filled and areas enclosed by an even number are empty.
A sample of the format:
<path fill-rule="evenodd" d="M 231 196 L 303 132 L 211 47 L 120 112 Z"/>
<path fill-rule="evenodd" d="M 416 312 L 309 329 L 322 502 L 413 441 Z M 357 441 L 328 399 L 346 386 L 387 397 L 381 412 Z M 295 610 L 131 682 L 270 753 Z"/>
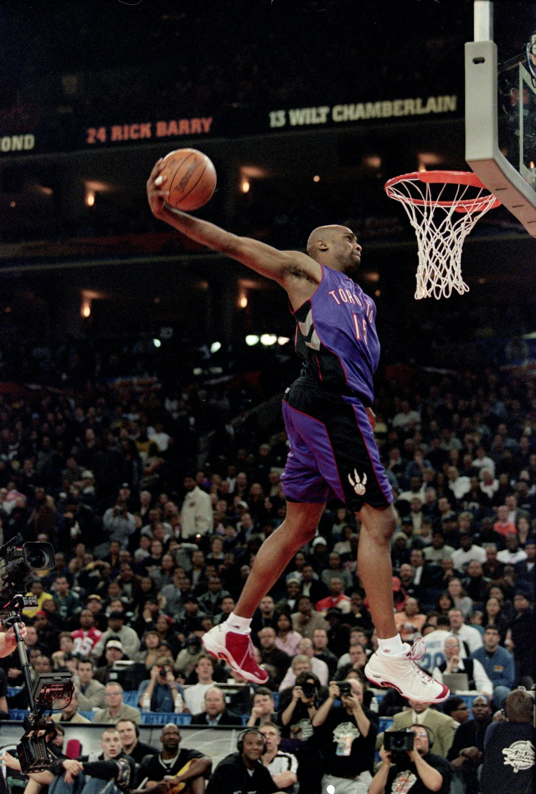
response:
<path fill-rule="evenodd" d="M 212 758 L 203 755 L 199 750 L 180 750 L 179 727 L 168 723 L 160 734 L 162 752 L 146 756 L 141 761 L 137 779 L 141 789 L 148 789 L 163 781 L 164 777 L 173 777 L 175 785 L 186 785 L 186 791 L 202 794 L 204 778 L 210 775 Z"/>

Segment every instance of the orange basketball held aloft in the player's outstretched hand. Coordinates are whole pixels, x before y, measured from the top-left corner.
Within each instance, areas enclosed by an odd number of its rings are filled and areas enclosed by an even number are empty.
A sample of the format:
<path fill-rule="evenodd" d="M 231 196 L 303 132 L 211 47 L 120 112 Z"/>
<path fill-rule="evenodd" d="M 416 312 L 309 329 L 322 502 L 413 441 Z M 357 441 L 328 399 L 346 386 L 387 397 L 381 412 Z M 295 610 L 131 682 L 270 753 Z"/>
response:
<path fill-rule="evenodd" d="M 168 177 L 162 186 L 170 191 L 165 201 L 177 210 L 197 210 L 212 198 L 216 189 L 214 164 L 197 149 L 169 152 L 160 175 Z"/>

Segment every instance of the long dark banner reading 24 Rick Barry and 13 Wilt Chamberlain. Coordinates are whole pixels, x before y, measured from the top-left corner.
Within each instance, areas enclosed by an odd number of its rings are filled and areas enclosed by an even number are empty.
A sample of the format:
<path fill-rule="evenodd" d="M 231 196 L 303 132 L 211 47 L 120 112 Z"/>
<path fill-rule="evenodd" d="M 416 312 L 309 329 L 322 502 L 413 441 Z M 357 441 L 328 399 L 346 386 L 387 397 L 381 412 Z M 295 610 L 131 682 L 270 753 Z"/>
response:
<path fill-rule="evenodd" d="M 357 127 L 418 122 L 434 117 L 460 117 L 458 94 L 434 94 L 409 98 L 387 98 L 363 102 L 324 104 L 275 110 L 229 107 L 217 114 L 177 114 L 176 118 L 148 121 L 125 119 L 121 123 L 75 122 L 69 116 L 43 115 L 33 123 L 0 123 L 0 158 L 41 152 L 73 152 L 96 148 L 146 145 L 187 138 L 241 137 L 245 135 L 290 132 L 306 128 Z M 13 126 L 10 129 L 9 123 Z M 19 129 L 17 129 L 17 127 Z"/>

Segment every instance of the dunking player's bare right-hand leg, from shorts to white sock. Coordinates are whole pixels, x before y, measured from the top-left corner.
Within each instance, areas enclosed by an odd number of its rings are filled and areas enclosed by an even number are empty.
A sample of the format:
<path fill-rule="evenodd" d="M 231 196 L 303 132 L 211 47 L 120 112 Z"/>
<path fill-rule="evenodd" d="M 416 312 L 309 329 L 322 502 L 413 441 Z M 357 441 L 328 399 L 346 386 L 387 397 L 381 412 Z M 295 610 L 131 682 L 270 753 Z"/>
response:
<path fill-rule="evenodd" d="M 367 593 L 368 609 L 378 638 L 397 634 L 393 603 L 391 538 L 396 529 L 395 511 L 391 507 L 364 504 L 357 513 L 361 520 L 357 570 Z"/>

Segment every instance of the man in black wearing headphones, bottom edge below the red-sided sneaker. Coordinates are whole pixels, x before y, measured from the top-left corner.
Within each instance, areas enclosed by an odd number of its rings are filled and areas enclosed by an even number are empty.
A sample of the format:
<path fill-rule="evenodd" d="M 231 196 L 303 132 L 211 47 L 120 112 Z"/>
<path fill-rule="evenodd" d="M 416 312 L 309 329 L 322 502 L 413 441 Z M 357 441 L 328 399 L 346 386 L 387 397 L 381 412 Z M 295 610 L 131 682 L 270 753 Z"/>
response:
<path fill-rule="evenodd" d="M 237 752 L 219 762 L 205 794 L 281 794 L 261 760 L 267 750 L 260 730 L 243 730 L 238 736 Z"/>

